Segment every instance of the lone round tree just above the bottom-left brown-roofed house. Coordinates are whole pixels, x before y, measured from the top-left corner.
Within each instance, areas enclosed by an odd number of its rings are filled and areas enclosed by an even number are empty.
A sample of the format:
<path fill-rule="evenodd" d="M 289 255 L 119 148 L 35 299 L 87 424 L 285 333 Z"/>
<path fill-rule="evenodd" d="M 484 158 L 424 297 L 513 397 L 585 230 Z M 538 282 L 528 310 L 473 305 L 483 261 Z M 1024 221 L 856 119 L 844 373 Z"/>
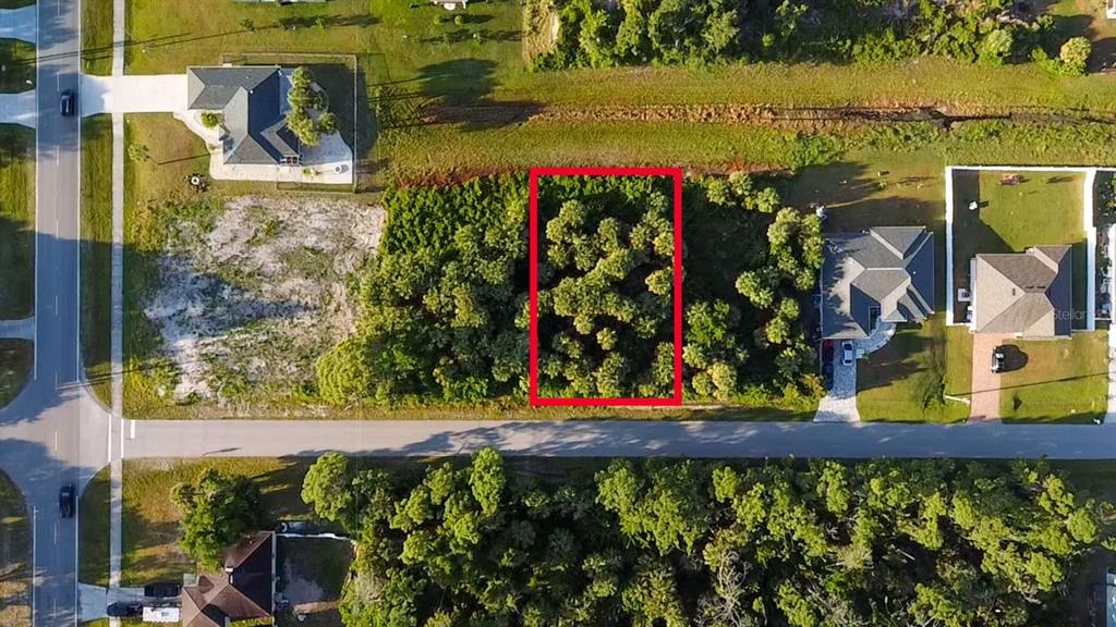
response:
<path fill-rule="evenodd" d="M 259 530 L 260 490 L 246 476 L 206 469 L 171 499 L 183 510 L 182 552 L 203 568 L 221 568 L 224 549 Z"/>

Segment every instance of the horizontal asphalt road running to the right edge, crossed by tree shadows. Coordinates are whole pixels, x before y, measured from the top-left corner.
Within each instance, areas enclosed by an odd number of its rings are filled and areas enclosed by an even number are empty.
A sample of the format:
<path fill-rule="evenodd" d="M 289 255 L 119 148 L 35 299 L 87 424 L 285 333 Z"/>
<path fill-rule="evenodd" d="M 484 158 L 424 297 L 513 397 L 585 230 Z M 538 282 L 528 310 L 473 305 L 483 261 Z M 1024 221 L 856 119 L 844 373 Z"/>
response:
<path fill-rule="evenodd" d="M 138 421 L 124 456 L 465 454 L 684 457 L 1116 456 L 1113 425 L 568 421 Z M 129 434 L 131 435 L 131 434 Z"/>

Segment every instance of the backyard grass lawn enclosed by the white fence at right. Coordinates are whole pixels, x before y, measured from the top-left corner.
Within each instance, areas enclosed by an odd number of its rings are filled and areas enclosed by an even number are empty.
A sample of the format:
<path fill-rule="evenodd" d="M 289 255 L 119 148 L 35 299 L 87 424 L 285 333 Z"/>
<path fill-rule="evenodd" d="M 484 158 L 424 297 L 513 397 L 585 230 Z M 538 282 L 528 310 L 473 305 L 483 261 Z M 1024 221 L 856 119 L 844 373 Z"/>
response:
<path fill-rule="evenodd" d="M 1020 183 L 1001 177 L 1017 174 Z M 954 281 L 969 284 L 975 254 L 1023 252 L 1030 247 L 1070 244 L 1074 255 L 1074 309 L 1085 311 L 1087 247 L 1083 216 L 1085 176 L 1065 172 L 954 172 Z M 980 203 L 969 211 L 969 203 Z M 1084 315 L 1074 326 L 1084 328 Z"/>

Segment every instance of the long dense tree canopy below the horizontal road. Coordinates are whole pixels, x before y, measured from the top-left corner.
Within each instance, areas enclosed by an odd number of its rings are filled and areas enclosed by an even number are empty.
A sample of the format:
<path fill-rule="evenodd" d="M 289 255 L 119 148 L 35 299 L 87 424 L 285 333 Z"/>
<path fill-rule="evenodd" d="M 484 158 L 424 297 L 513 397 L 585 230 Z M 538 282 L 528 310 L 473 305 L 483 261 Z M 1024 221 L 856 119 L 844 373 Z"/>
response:
<path fill-rule="evenodd" d="M 615 460 L 546 481 L 484 450 L 410 484 L 315 475 L 358 503 L 324 511 L 359 538 L 349 627 L 1043 625 L 1112 519 L 1032 462 Z"/>

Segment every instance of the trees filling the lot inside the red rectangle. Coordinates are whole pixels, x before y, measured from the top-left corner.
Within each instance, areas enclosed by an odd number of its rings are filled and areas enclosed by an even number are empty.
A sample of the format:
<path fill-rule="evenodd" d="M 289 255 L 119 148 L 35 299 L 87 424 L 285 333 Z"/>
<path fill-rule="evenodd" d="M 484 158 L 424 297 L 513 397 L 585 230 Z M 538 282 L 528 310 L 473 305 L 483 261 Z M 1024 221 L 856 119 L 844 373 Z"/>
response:
<path fill-rule="evenodd" d="M 670 396 L 674 219 L 665 177 L 539 184 L 539 389 Z"/>

